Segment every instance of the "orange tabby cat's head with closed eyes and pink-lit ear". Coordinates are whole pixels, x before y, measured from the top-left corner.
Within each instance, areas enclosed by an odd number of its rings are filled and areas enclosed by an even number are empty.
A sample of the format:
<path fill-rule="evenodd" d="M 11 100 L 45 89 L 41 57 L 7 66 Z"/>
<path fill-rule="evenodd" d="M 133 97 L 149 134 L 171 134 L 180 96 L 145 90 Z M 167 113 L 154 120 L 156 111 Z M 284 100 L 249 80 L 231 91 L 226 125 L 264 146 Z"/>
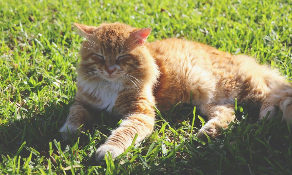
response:
<path fill-rule="evenodd" d="M 99 27 L 74 25 L 87 39 L 80 50 L 79 78 L 134 85 L 157 72 L 155 61 L 144 46 L 150 28 L 137 29 L 117 22 Z"/>

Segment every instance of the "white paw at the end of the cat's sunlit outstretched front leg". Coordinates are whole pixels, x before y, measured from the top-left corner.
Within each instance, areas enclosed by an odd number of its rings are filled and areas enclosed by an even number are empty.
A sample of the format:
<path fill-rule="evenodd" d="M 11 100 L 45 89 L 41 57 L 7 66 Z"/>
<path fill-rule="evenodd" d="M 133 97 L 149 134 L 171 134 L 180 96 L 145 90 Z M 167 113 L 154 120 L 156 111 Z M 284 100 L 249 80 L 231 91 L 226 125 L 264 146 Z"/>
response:
<path fill-rule="evenodd" d="M 109 151 L 111 153 L 112 158 L 115 158 L 124 152 L 124 150 L 122 150 L 121 148 L 118 148 L 116 146 L 109 145 L 109 144 L 104 144 L 96 150 L 95 159 L 98 161 L 98 160 L 104 159 L 105 155 L 107 155 L 107 157 L 108 157 L 107 151 Z"/>

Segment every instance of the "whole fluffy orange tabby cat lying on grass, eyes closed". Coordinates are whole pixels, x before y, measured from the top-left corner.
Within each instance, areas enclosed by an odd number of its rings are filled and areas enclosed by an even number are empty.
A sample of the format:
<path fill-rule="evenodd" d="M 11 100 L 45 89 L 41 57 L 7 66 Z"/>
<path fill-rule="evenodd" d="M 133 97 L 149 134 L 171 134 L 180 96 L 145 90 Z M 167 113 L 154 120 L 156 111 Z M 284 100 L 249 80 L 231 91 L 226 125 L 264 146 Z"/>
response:
<path fill-rule="evenodd" d="M 105 109 L 122 117 L 107 141 L 96 151 L 101 160 L 109 151 L 117 157 L 153 130 L 158 102 L 165 109 L 179 101 L 197 106 L 209 121 L 199 130 L 211 138 L 234 120 L 234 100 L 261 105 L 260 119 L 275 106 L 291 122 L 292 89 L 284 77 L 252 58 L 234 56 L 201 43 L 166 39 L 145 43 L 150 28 L 137 29 L 126 24 L 102 24 L 90 27 L 75 24 L 84 32 L 77 69 L 77 94 L 65 125 L 60 129 L 68 139 L 93 114 L 91 109 Z"/>

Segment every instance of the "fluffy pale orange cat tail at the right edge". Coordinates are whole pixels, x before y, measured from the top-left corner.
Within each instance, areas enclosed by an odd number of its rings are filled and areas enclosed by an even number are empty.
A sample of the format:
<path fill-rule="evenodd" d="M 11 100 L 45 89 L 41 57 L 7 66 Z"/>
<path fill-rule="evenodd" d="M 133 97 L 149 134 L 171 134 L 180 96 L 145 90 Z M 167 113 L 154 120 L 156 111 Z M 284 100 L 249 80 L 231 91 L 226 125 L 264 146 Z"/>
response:
<path fill-rule="evenodd" d="M 268 97 L 269 101 L 274 103 L 283 111 L 283 118 L 292 126 L 292 88 L 287 83 L 279 85 L 271 90 Z"/>

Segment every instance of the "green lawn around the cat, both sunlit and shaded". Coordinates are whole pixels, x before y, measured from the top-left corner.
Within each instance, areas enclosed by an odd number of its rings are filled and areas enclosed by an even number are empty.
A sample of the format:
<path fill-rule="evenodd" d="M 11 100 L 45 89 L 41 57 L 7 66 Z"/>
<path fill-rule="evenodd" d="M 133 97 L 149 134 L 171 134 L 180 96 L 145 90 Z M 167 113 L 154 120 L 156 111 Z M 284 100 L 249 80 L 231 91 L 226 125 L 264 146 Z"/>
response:
<path fill-rule="evenodd" d="M 91 155 L 119 124 L 114 116 L 97 114 L 77 140 L 58 132 L 76 92 L 82 38 L 73 22 L 152 27 L 148 41 L 250 55 L 291 81 L 291 11 L 284 0 L 0 0 L 0 174 L 292 174 L 291 127 L 280 117 L 259 122 L 249 104 L 208 143 L 195 137 L 206 118 L 192 106 L 157 111 L 149 137 L 103 164 Z"/>

